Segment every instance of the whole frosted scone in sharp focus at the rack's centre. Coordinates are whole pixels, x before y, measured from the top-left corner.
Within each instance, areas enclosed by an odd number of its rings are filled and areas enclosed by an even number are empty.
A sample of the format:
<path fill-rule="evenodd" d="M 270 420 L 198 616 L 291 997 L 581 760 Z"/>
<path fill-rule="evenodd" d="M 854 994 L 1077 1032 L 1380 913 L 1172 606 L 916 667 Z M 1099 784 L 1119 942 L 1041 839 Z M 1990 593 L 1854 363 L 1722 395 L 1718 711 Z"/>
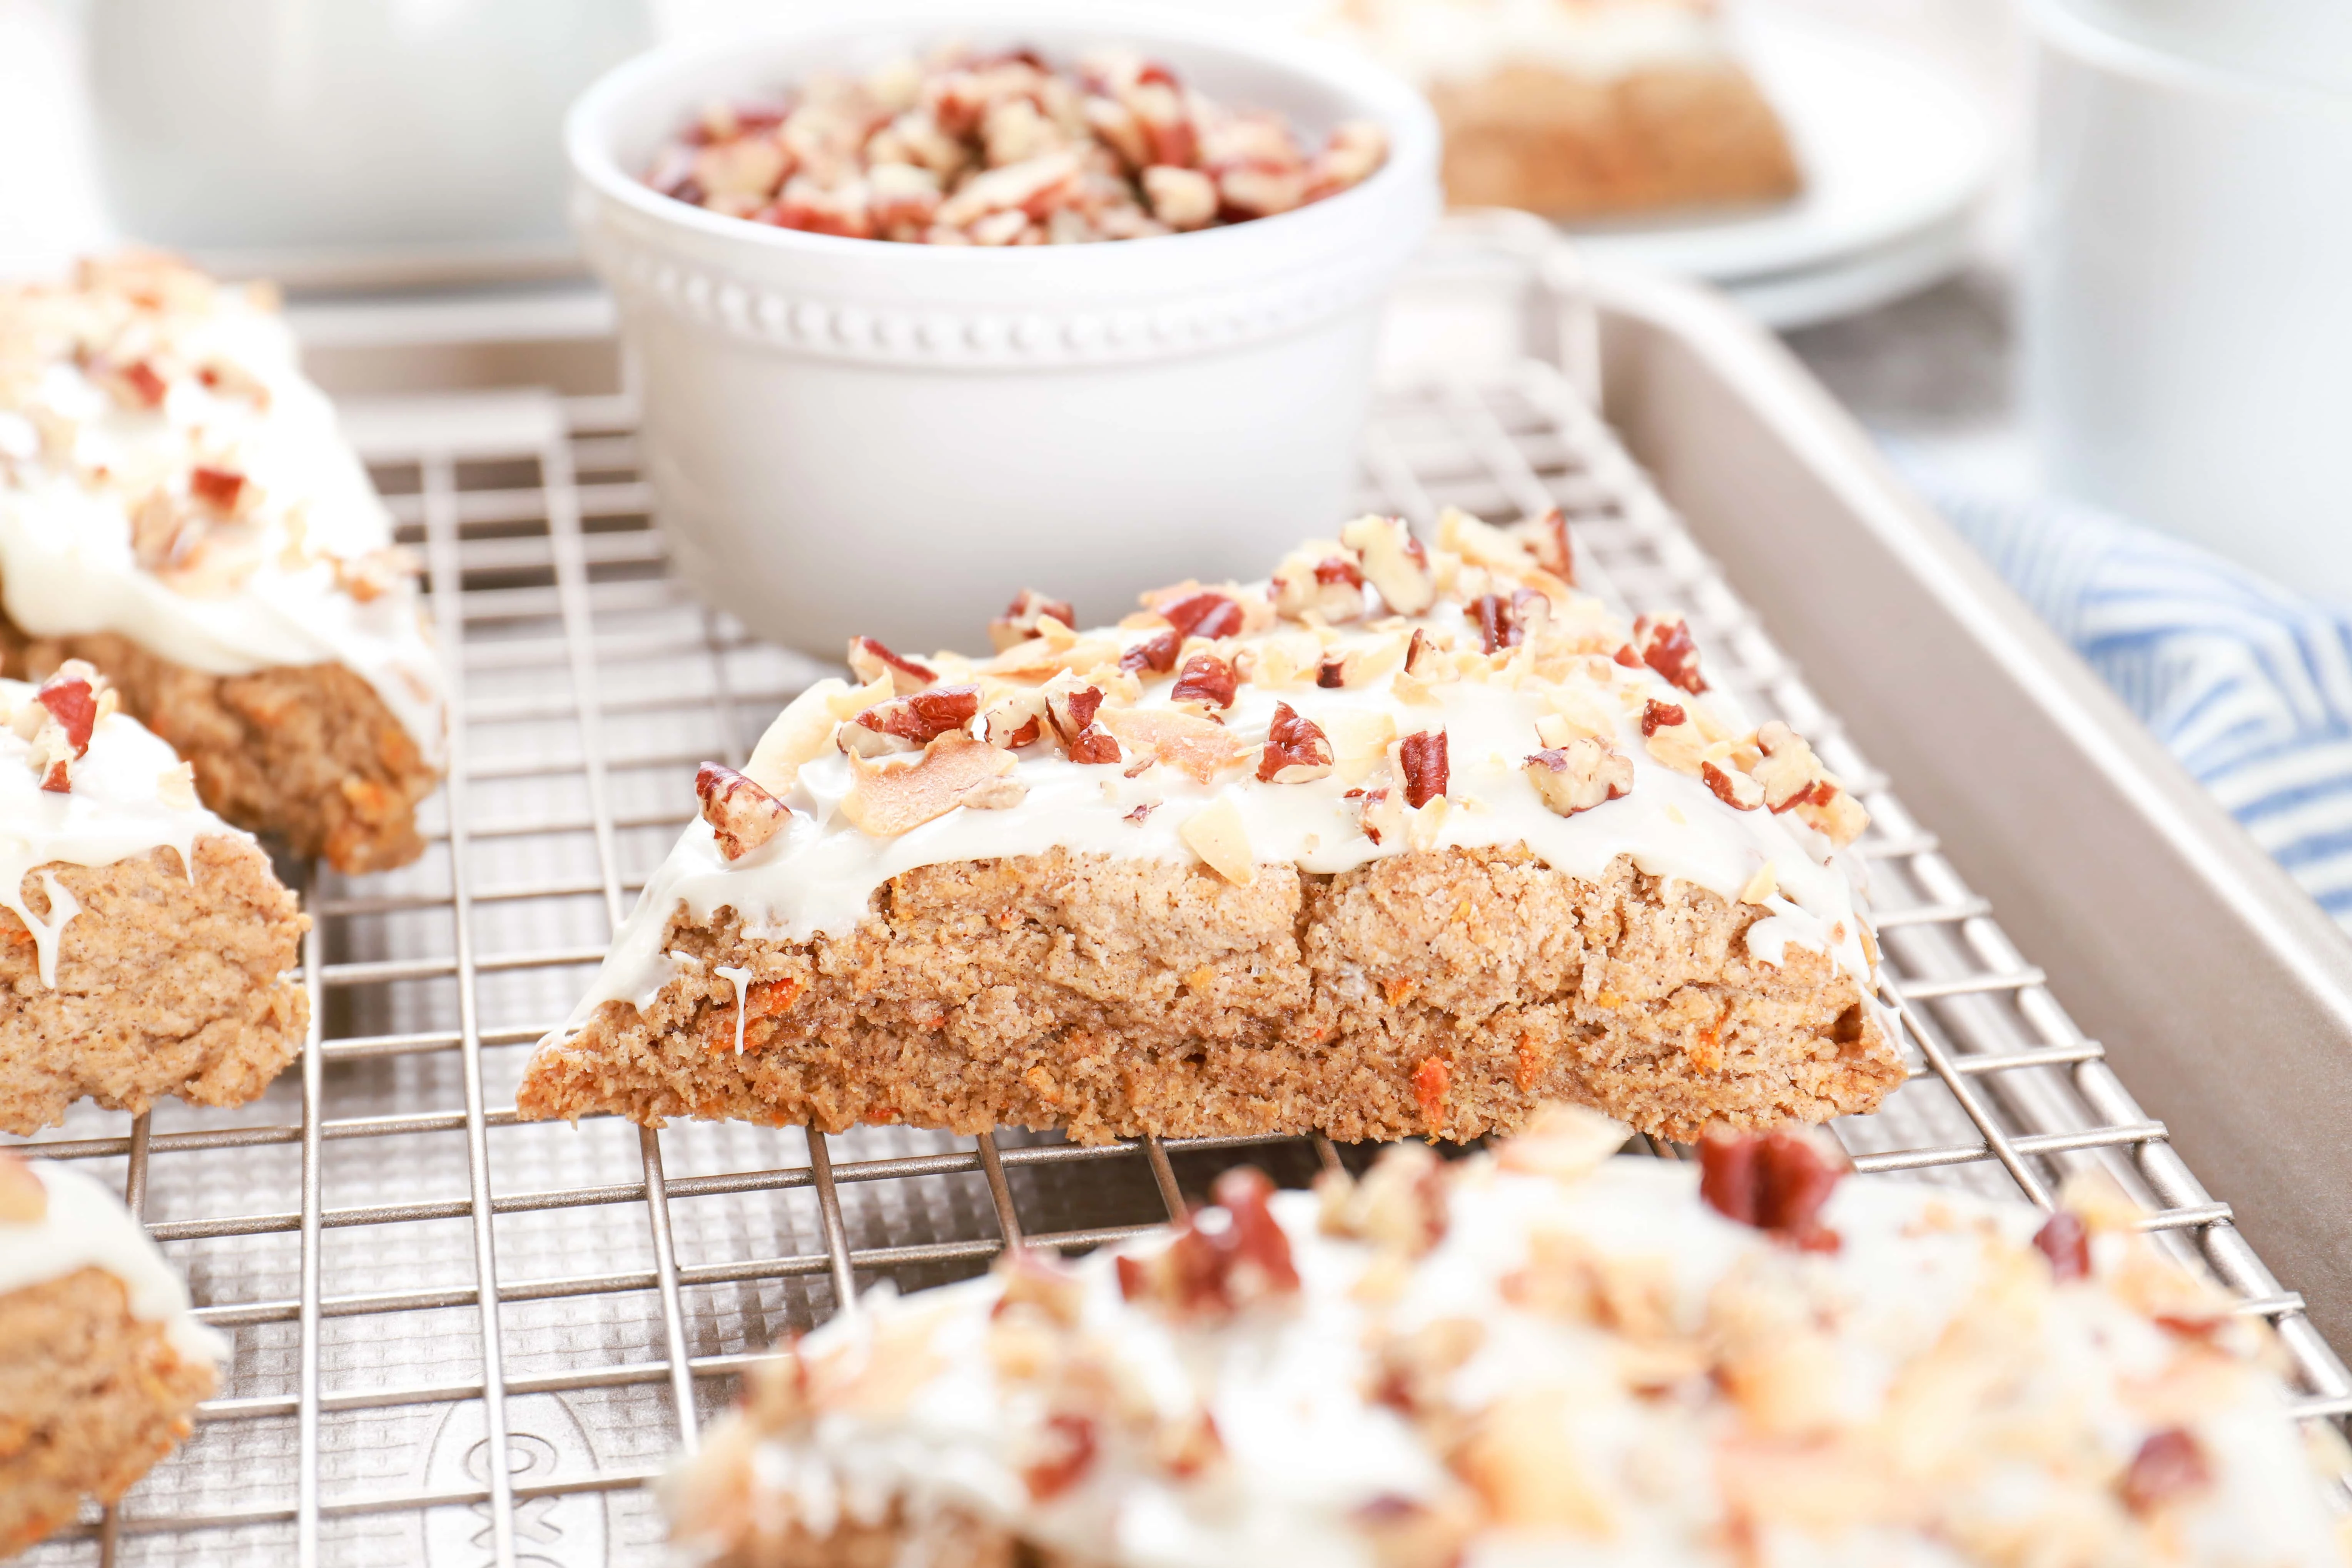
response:
<path fill-rule="evenodd" d="M 1903 1077 L 1860 804 L 1573 590 L 1552 512 L 1364 517 L 993 658 L 858 639 L 687 827 L 527 1117 L 981 1131 L 1823 1121 Z"/>

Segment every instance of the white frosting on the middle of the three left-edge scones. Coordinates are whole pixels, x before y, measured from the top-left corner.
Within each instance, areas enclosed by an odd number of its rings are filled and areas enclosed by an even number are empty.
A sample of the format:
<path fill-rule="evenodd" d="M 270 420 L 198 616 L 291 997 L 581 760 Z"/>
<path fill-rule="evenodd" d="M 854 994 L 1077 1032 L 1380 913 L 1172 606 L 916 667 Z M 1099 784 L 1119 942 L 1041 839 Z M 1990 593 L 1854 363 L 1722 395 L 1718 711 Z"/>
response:
<path fill-rule="evenodd" d="M 89 750 L 66 766 L 66 790 L 42 788 L 42 710 L 35 686 L 0 679 L 0 907 L 33 933 L 42 985 L 56 985 L 56 954 L 80 912 L 73 893 L 42 867 L 113 865 L 151 849 L 174 849 L 195 877 L 195 842 L 249 839 L 195 799 L 188 764 L 127 712 L 99 698 Z M 40 886 L 45 914 L 26 889 Z"/>

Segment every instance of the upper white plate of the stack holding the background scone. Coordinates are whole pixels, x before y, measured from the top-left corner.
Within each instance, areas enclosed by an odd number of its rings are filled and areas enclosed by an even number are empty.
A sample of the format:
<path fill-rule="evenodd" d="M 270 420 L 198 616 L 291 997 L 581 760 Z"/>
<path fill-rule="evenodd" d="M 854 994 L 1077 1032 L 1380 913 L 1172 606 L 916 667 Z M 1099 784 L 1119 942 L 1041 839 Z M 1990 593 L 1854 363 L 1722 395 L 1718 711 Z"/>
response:
<path fill-rule="evenodd" d="M 1846 263 L 1964 226 L 1992 176 L 1992 127 L 1915 56 L 1776 12 L 1743 14 L 1750 68 L 1804 167 L 1795 202 L 1642 226 L 1578 226 L 1592 261 L 1736 284 Z"/>

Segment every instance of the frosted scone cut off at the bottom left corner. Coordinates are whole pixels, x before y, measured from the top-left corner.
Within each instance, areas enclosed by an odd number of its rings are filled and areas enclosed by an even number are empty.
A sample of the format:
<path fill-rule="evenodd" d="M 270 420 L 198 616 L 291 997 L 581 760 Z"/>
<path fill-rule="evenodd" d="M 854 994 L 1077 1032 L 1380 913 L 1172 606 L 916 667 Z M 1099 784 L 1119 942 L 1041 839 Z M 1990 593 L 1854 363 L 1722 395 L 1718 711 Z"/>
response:
<path fill-rule="evenodd" d="M 0 1150 L 0 1556 L 127 1493 L 226 1354 L 113 1192 Z"/>

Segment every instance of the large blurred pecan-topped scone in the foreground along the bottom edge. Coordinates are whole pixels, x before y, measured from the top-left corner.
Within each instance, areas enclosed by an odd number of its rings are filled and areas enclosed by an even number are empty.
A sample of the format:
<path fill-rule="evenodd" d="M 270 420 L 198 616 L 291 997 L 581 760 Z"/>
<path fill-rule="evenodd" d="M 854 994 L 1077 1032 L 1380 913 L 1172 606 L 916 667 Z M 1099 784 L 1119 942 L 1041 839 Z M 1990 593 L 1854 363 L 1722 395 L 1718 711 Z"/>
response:
<path fill-rule="evenodd" d="M 1623 1133 L 1562 1110 L 1319 1194 L 1242 1168 L 1174 1237 L 870 1295 L 753 1366 L 673 1535 L 727 1568 L 2347 1561 L 2352 1453 L 2112 1182 L 2042 1213 L 1839 1180 L 1818 1131 L 1703 1168 Z"/>

